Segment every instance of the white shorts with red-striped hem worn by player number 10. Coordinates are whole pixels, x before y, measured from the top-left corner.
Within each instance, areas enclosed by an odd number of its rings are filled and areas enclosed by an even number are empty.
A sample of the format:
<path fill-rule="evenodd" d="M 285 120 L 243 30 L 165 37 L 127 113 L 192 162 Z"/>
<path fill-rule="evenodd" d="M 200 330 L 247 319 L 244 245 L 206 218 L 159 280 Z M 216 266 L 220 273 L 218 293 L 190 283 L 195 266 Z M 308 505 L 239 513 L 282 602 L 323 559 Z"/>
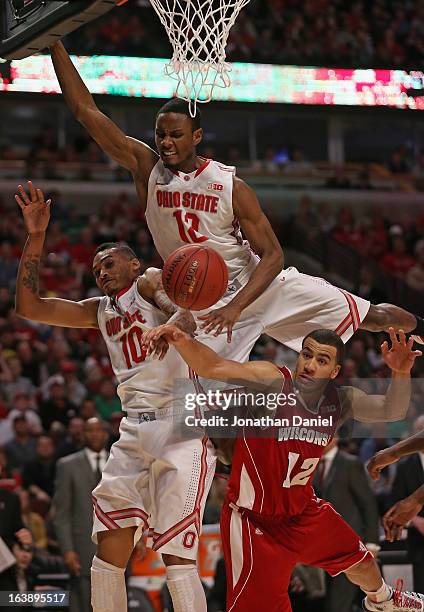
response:
<path fill-rule="evenodd" d="M 157 412 L 157 411 L 156 411 Z M 181 439 L 172 416 L 123 418 L 102 479 L 93 491 L 93 541 L 107 529 L 137 527 L 160 553 L 196 559 L 215 451 L 199 434 Z"/>

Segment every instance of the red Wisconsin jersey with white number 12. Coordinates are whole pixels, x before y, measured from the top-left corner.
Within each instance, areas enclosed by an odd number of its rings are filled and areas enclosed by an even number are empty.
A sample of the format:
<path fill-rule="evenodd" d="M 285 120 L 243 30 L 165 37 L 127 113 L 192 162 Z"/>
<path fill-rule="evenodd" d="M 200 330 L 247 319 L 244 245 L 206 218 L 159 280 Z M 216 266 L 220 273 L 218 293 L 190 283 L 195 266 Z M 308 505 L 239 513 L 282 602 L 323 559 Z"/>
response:
<path fill-rule="evenodd" d="M 280 372 L 285 377 L 283 393 L 296 400 L 278 408 L 273 418 L 288 423 L 270 429 L 269 437 L 252 437 L 255 433 L 246 428 L 240 431 L 228 485 L 231 502 L 265 517 L 300 514 L 314 497 L 315 469 L 343 412 L 331 382 L 312 412 L 294 389 L 290 370 L 284 367 Z M 324 419 L 331 424 L 316 424 Z"/>

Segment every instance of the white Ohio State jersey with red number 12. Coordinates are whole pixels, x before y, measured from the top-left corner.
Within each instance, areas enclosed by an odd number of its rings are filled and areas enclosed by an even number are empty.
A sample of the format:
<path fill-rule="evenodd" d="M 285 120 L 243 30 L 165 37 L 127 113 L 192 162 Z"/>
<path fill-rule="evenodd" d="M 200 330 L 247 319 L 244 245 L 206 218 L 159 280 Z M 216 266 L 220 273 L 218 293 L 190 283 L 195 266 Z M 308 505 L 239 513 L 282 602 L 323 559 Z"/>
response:
<path fill-rule="evenodd" d="M 233 212 L 235 168 L 207 159 L 189 174 L 159 160 L 149 177 L 146 220 L 155 247 L 166 259 L 187 244 L 205 244 L 225 260 L 230 282 L 256 258 Z"/>

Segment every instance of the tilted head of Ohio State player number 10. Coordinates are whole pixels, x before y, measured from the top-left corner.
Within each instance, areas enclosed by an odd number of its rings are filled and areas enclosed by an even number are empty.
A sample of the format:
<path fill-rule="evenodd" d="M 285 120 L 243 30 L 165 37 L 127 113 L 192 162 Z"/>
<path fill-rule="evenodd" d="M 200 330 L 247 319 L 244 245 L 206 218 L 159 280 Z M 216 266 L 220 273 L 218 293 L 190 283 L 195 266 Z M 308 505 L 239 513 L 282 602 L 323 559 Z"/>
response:
<path fill-rule="evenodd" d="M 106 249 L 93 260 L 93 274 L 98 288 L 109 297 L 115 297 L 129 287 L 140 273 L 140 262 L 128 259 L 125 253 Z"/>

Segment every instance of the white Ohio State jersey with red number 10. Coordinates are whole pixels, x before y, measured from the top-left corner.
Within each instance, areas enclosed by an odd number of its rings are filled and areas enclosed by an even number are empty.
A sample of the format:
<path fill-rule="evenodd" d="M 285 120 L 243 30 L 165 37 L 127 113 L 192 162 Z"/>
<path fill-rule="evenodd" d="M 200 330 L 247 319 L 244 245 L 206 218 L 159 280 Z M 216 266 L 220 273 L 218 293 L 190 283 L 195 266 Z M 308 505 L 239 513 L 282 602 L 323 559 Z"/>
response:
<path fill-rule="evenodd" d="M 97 319 L 119 381 L 122 409 L 171 407 L 176 385 L 188 378 L 188 368 L 173 346 L 162 361 L 146 357 L 141 344 L 143 329 L 162 325 L 167 317 L 141 297 L 137 280 L 115 300 L 101 298 Z"/>

